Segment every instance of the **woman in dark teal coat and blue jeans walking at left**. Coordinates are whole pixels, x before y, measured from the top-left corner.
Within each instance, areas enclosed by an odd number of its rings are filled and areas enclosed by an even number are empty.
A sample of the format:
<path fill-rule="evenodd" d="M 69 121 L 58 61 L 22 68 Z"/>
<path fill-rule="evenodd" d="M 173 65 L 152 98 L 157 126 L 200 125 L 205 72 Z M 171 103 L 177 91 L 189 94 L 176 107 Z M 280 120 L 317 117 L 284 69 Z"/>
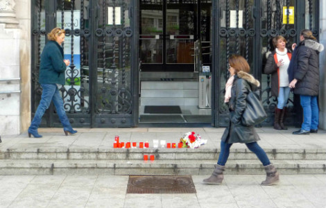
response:
<path fill-rule="evenodd" d="M 77 131 L 71 127 L 63 101 L 60 96 L 59 88 L 65 85 L 65 71 L 69 66 L 69 60 L 63 60 L 62 42 L 65 41 L 65 30 L 54 28 L 48 34 L 49 42 L 46 43 L 41 54 L 39 83 L 42 87 L 42 97 L 40 105 L 37 106 L 35 116 L 28 128 L 28 137 L 42 137 L 37 132 L 41 123 L 42 116 L 49 108 L 51 101 L 55 105 L 59 119 L 63 125 L 65 135 L 75 134 Z"/>

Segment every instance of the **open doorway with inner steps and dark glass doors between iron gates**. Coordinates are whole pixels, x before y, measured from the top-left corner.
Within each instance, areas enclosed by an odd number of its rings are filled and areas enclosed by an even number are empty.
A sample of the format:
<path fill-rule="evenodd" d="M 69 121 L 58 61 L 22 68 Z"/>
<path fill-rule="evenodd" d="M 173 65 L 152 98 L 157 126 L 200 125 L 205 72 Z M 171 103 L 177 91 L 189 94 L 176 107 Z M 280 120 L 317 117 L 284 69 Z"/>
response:
<path fill-rule="evenodd" d="M 211 10 L 207 1 L 140 1 L 139 123 L 212 123 Z"/>

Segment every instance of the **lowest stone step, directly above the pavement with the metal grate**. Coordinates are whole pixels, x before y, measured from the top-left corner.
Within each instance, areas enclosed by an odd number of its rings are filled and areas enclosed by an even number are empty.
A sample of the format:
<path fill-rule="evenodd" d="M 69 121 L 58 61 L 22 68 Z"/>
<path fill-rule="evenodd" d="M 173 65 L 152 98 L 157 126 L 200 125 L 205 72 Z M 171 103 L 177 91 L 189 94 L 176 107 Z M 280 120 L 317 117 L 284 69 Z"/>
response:
<path fill-rule="evenodd" d="M 280 174 L 326 174 L 323 160 L 272 160 Z M 216 160 L 2 159 L 0 175 L 210 175 Z M 230 160 L 225 174 L 264 174 L 258 159 Z"/>

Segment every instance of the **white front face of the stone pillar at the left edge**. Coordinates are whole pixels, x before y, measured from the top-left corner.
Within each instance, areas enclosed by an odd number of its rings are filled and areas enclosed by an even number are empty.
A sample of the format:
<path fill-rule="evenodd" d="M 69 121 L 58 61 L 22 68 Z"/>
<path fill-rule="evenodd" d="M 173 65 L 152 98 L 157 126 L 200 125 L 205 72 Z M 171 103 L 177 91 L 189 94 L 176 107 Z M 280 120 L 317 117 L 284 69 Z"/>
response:
<path fill-rule="evenodd" d="M 0 1 L 0 133 L 18 135 L 20 119 L 19 21 L 15 1 Z M 1 93 L 2 92 L 2 93 Z M 3 94 L 3 92 L 6 92 Z"/>

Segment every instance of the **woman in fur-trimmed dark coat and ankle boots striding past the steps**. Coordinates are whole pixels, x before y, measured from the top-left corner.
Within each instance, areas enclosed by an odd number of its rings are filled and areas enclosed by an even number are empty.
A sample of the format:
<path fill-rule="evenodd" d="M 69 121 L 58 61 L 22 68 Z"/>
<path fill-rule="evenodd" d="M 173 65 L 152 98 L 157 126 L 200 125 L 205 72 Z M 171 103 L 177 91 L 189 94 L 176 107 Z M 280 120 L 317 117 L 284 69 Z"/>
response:
<path fill-rule="evenodd" d="M 269 161 L 265 151 L 257 144 L 259 136 L 255 127 L 245 126 L 241 123 L 241 118 L 246 109 L 246 98 L 250 90 L 255 90 L 260 83 L 249 74 L 248 62 L 241 55 L 232 55 L 229 58 L 230 71 L 234 71 L 234 81 L 231 88 L 231 97 L 228 102 L 230 110 L 230 122 L 223 133 L 221 139 L 221 153 L 218 162 L 210 177 L 203 180 L 205 184 L 221 184 L 223 181 L 223 171 L 225 163 L 228 161 L 230 147 L 234 143 L 246 144 L 250 151 L 255 153 L 266 170 L 266 180 L 261 185 L 273 185 L 279 182 L 279 173 L 275 166 Z"/>

